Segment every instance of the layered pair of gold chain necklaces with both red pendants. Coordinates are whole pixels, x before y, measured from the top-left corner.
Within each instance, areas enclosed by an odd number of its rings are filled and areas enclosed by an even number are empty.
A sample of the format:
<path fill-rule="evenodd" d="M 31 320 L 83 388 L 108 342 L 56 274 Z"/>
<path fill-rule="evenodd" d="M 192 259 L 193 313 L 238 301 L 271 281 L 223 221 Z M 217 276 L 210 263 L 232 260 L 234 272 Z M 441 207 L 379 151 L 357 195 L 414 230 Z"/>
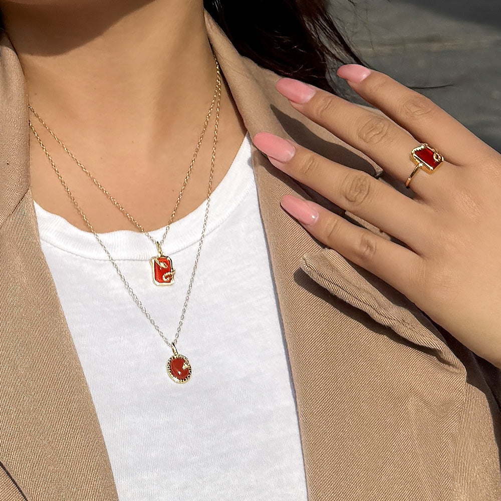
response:
<path fill-rule="evenodd" d="M 172 341 L 169 341 L 167 336 L 162 332 L 158 324 L 155 322 L 155 320 L 152 318 L 148 310 L 144 307 L 144 305 L 141 303 L 139 298 L 137 297 L 136 293 L 133 291 L 132 287 L 124 277 L 122 271 L 117 265 L 117 262 L 113 257 L 111 256 L 108 248 L 104 244 L 103 240 L 101 237 L 96 233 L 94 230 L 94 227 L 92 226 L 91 222 L 89 221 L 88 217 L 85 215 L 83 212 L 82 208 L 80 207 L 79 203 L 73 196 L 73 193 L 64 180 L 63 176 L 61 175 L 61 172 L 59 168 L 57 167 L 56 163 L 54 162 L 52 156 L 48 152 L 44 142 L 40 138 L 40 135 L 36 131 L 33 123 L 30 121 L 30 129 L 33 132 L 35 138 L 37 139 L 38 143 L 40 144 L 42 150 L 44 151 L 46 157 L 48 158 L 52 168 L 54 169 L 54 172 L 56 173 L 61 185 L 63 186 L 64 190 L 66 191 L 68 197 L 72 201 L 73 205 L 75 206 L 75 209 L 77 210 L 78 214 L 84 221 L 85 225 L 89 229 L 89 231 L 94 235 L 96 238 L 97 242 L 103 249 L 104 253 L 106 254 L 109 262 L 113 265 L 113 268 L 115 269 L 115 272 L 117 273 L 118 277 L 120 278 L 122 284 L 124 285 L 125 289 L 129 293 L 130 297 L 136 304 L 136 306 L 139 308 L 139 310 L 143 313 L 143 315 L 148 319 L 152 327 L 156 330 L 156 332 L 160 335 L 160 337 L 163 339 L 163 341 L 171 348 L 173 355 L 167 360 L 166 364 L 166 369 L 167 369 L 167 374 L 169 377 L 175 381 L 176 383 L 185 383 L 188 381 L 191 377 L 191 364 L 189 360 L 184 356 L 181 355 L 180 353 L 177 352 L 176 344 L 179 339 L 179 335 L 181 334 L 181 329 L 183 326 L 184 318 L 186 315 L 186 310 L 188 307 L 188 302 L 189 298 L 191 295 L 191 289 L 193 287 L 193 281 L 195 279 L 195 274 L 196 274 L 196 269 L 198 267 L 198 261 L 200 259 L 200 253 L 202 249 L 202 244 L 203 244 L 203 239 L 205 236 L 205 231 L 207 228 L 207 218 L 209 215 L 209 206 L 210 206 L 210 195 L 212 193 L 212 178 L 214 174 L 214 164 L 215 164 L 215 153 L 216 153 L 216 145 L 217 145 L 217 128 L 219 125 L 219 107 L 220 107 L 220 101 L 221 101 L 221 73 L 219 69 L 219 64 L 217 62 L 216 57 L 214 57 L 214 62 L 216 66 L 216 84 L 215 84 L 215 90 L 214 90 L 214 96 L 212 99 L 212 102 L 210 103 L 209 111 L 205 117 L 205 122 L 203 124 L 202 132 L 200 134 L 199 140 L 197 142 L 195 152 L 193 154 L 192 160 L 190 162 L 188 171 L 186 173 L 186 176 L 184 178 L 184 182 L 182 184 L 181 190 L 179 192 L 179 196 L 177 197 L 174 209 L 172 211 L 172 214 L 170 216 L 169 222 L 167 223 L 167 226 L 165 228 L 165 231 L 163 233 L 163 236 L 160 241 L 155 240 L 147 231 L 145 231 L 144 227 L 140 225 L 137 220 L 130 214 L 129 211 L 125 210 L 125 208 L 120 204 L 115 197 L 113 197 L 109 191 L 91 174 L 91 172 L 75 157 L 73 153 L 70 152 L 70 150 L 66 147 L 66 145 L 56 136 L 56 134 L 52 131 L 52 129 L 46 124 L 44 120 L 38 115 L 33 107 L 29 104 L 28 107 L 30 111 L 33 113 L 33 115 L 39 120 L 39 122 L 47 129 L 47 131 L 51 134 L 51 136 L 59 143 L 59 145 L 66 151 L 68 155 L 76 162 L 76 164 L 81 168 L 83 172 L 87 174 L 87 176 L 92 180 L 92 182 L 106 195 L 106 197 L 113 202 L 113 204 L 129 219 L 129 221 L 136 226 L 136 228 L 141 232 L 144 233 L 147 238 L 156 246 L 157 250 L 157 256 L 154 256 L 151 258 L 150 263 L 151 263 L 151 268 L 152 268 L 152 277 L 153 277 L 153 282 L 156 285 L 172 285 L 174 283 L 174 273 L 175 270 L 172 267 L 172 260 L 168 256 L 164 256 L 162 252 L 162 244 L 165 241 L 165 238 L 167 236 L 170 224 L 174 220 L 174 216 L 176 214 L 177 208 L 179 206 L 179 203 L 181 201 L 181 197 L 183 195 L 184 189 L 186 188 L 186 185 L 188 184 L 188 179 L 190 177 L 191 171 L 193 169 L 193 165 L 195 163 L 195 159 L 197 157 L 198 151 L 200 149 L 200 145 L 202 143 L 202 139 L 204 137 L 205 131 L 207 129 L 211 114 L 213 109 L 215 108 L 215 123 L 214 123 L 214 138 L 213 138 L 213 143 L 212 143 L 212 156 L 211 156 L 211 161 L 210 161 L 210 172 L 209 172 L 209 180 L 208 180 L 208 187 L 207 187 L 207 198 L 205 201 L 205 213 L 203 217 L 203 223 L 202 223 L 202 231 L 200 235 L 200 239 L 198 240 L 198 247 L 196 250 L 196 255 L 195 255 L 195 261 L 193 264 L 193 269 L 191 271 L 191 276 L 190 280 L 188 282 L 188 287 L 186 290 L 186 296 L 184 299 L 184 304 L 181 310 L 181 316 L 179 318 L 179 322 L 177 325 L 177 330 L 174 335 L 174 338 Z"/>

